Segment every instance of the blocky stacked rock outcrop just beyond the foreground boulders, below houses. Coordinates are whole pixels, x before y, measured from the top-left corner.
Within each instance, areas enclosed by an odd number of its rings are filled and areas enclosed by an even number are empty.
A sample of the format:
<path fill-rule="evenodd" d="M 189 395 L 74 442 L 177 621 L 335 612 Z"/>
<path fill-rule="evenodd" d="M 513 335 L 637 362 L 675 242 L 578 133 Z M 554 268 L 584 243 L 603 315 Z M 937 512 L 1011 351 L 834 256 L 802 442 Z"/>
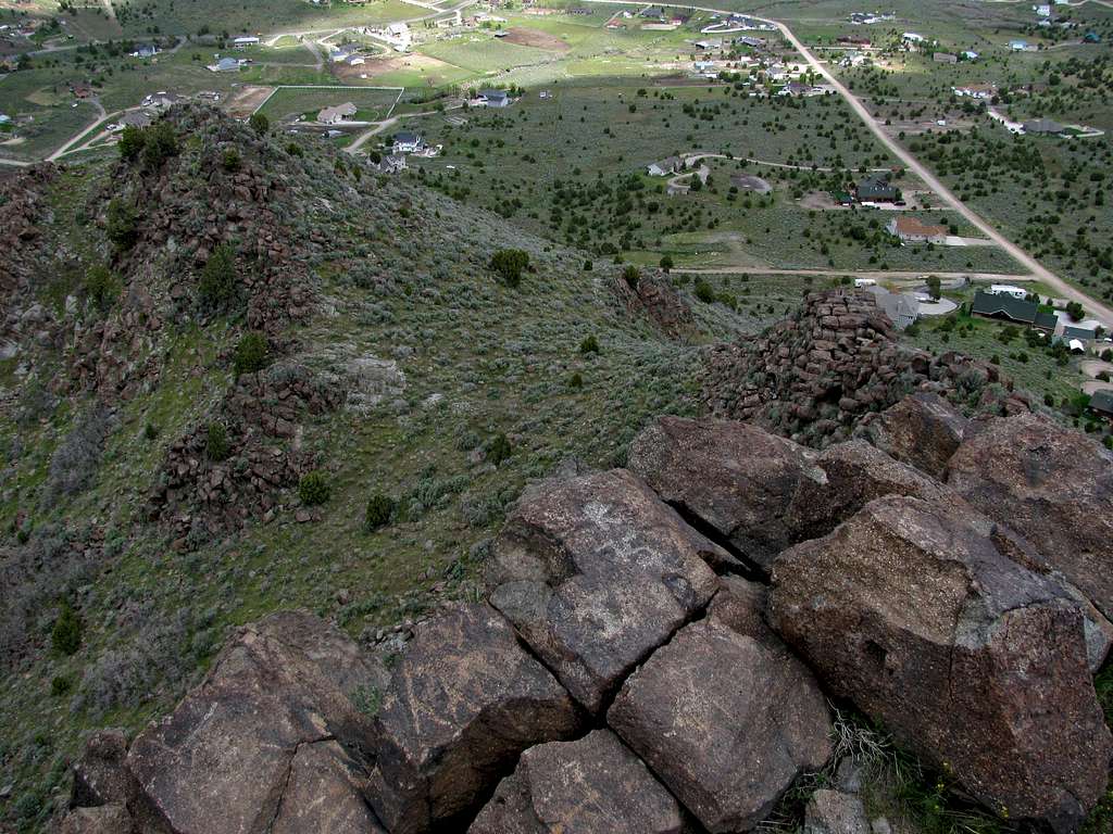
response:
<path fill-rule="evenodd" d="M 757 338 L 715 348 L 703 400 L 717 417 L 821 447 L 917 389 L 999 414 L 1028 410 L 1024 395 L 992 385 L 999 381 L 988 363 L 900 345 L 871 294 L 827 290 Z"/>

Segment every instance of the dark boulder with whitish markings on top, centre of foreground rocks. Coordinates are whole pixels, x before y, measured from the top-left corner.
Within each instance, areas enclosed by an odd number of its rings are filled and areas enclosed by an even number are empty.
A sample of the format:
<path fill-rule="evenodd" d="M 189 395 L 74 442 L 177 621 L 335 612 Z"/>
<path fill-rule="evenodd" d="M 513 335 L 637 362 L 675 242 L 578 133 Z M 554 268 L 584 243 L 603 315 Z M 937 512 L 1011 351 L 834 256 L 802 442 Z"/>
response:
<path fill-rule="evenodd" d="M 491 604 L 589 712 L 711 599 L 729 556 L 615 469 L 549 481 L 495 540 Z"/>

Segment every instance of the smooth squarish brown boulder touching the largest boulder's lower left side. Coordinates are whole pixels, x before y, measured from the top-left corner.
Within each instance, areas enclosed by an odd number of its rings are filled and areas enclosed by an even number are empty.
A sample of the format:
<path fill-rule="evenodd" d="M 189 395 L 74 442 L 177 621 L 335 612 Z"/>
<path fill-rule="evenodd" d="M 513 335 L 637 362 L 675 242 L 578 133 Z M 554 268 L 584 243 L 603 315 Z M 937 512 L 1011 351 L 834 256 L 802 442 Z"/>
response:
<path fill-rule="evenodd" d="M 811 673 L 746 613 L 758 596 L 720 599 L 730 595 L 725 586 L 708 617 L 653 653 L 607 713 L 712 834 L 752 828 L 801 772 L 831 754 L 827 704 Z"/>

